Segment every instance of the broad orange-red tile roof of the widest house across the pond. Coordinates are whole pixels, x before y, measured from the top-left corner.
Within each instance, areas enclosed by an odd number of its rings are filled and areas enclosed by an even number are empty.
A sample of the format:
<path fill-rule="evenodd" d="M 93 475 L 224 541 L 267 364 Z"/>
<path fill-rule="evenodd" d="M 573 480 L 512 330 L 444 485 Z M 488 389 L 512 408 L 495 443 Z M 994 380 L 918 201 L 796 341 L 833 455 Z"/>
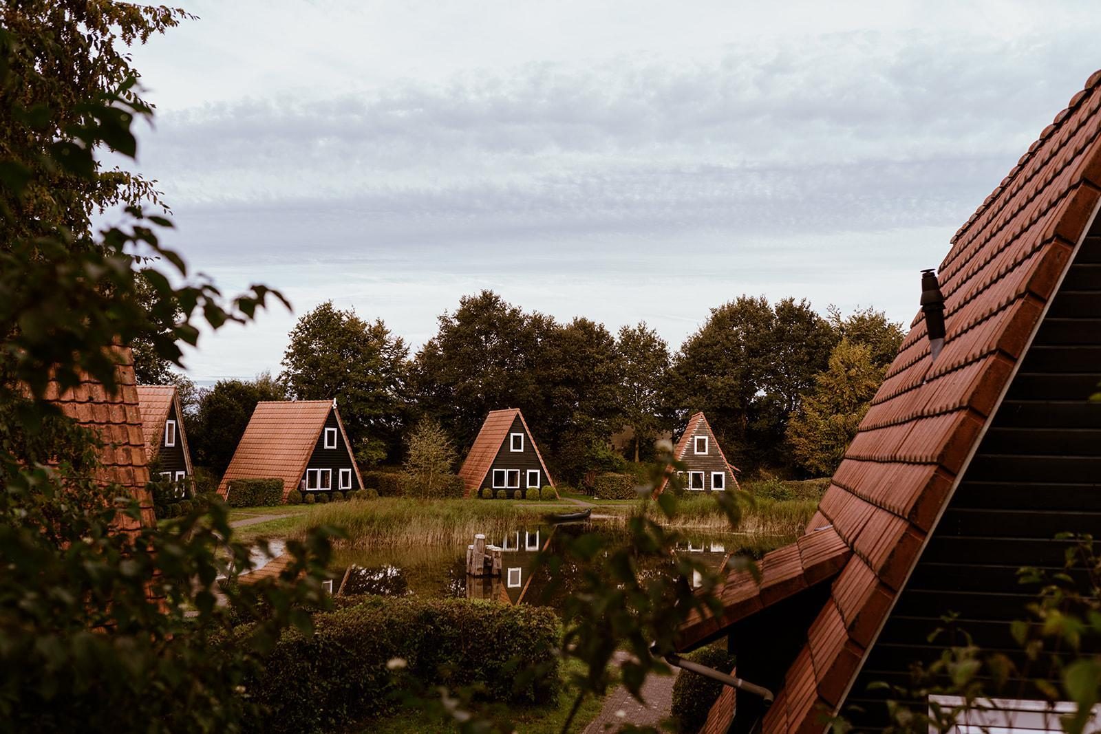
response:
<path fill-rule="evenodd" d="M 262 401 L 249 419 L 244 435 L 233 451 L 226 474 L 218 484 L 218 493 L 226 496 L 229 482 L 235 479 L 282 479 L 283 496 L 297 489 L 306 464 L 321 436 L 329 410 L 337 414 L 337 426 L 345 434 L 340 412 L 333 401 Z M 352 460 L 356 478 L 363 486 L 359 467 Z"/>

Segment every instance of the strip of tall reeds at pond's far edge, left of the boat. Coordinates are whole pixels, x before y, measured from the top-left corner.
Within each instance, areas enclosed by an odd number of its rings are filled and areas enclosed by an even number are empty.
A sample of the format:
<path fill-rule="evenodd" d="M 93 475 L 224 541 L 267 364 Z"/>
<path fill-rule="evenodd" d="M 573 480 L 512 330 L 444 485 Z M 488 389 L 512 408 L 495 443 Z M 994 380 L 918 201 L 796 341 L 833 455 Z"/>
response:
<path fill-rule="evenodd" d="M 524 502 L 486 500 L 379 499 L 315 506 L 298 535 L 320 525 L 344 528 L 353 548 L 393 545 L 459 545 L 475 534 L 500 537 L 525 524 L 536 524 L 546 507 Z"/>

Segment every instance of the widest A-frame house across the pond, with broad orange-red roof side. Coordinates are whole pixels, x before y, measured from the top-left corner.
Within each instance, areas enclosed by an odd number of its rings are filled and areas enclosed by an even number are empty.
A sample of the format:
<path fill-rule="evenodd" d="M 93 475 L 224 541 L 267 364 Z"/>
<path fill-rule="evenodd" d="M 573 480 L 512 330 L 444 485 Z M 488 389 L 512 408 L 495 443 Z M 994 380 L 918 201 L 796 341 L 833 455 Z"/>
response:
<path fill-rule="evenodd" d="M 258 403 L 218 485 L 222 497 L 236 479 L 281 479 L 284 500 L 363 487 L 335 399 Z"/>

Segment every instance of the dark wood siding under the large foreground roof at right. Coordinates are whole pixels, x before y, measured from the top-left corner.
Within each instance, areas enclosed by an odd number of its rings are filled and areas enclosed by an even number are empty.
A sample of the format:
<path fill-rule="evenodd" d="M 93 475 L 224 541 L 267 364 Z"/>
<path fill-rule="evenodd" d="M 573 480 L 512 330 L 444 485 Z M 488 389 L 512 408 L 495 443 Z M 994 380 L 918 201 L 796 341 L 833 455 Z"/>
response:
<path fill-rule="evenodd" d="M 1098 234 L 1094 224 L 849 694 L 868 712 L 851 714 L 861 728 L 886 724 L 868 684 L 905 684 L 911 661 L 939 655 L 944 643 L 926 638 L 945 614 L 981 648 L 1020 658 L 1010 624 L 1036 589 L 1017 569 L 1060 568 L 1056 534 L 1101 528 L 1101 404 L 1087 401 L 1101 382 Z"/>

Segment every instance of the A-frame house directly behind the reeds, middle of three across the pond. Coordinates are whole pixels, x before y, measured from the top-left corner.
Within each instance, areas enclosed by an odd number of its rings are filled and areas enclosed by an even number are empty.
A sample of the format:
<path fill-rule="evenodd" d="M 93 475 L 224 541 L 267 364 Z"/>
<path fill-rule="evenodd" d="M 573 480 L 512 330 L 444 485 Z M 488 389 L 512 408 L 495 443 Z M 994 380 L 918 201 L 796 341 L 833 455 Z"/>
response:
<path fill-rule="evenodd" d="M 459 476 L 464 496 L 495 497 L 503 491 L 510 499 L 527 490 L 554 486 L 539 447 L 519 408 L 491 410 L 475 439 Z"/>

